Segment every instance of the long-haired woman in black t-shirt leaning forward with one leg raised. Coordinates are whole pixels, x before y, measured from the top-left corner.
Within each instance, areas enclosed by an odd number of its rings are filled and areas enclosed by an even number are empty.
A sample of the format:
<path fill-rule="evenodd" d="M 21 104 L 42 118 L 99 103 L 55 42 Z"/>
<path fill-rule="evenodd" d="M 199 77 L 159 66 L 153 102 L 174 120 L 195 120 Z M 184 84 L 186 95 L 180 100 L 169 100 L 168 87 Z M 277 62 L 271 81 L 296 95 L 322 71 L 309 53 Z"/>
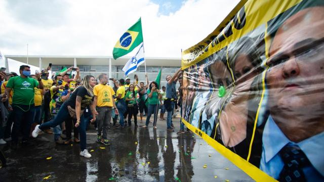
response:
<path fill-rule="evenodd" d="M 32 132 L 32 136 L 34 138 L 37 137 L 38 133 L 47 127 L 55 127 L 58 124 L 62 123 L 64 120 L 69 118 L 73 118 L 76 120 L 75 127 L 78 127 L 79 134 L 80 134 L 80 156 L 90 158 L 91 154 L 89 154 L 88 150 L 86 149 L 87 145 L 87 136 L 86 136 L 86 127 L 88 125 L 85 121 L 83 112 L 84 109 L 90 106 L 92 111 L 93 119 L 91 122 L 96 121 L 96 104 L 93 102 L 94 94 L 93 94 L 93 87 L 96 85 L 96 79 L 92 75 L 87 75 L 83 79 L 82 86 L 77 87 L 74 89 L 73 93 L 71 94 L 70 98 L 62 104 L 60 110 L 58 111 L 56 117 L 51 120 L 50 122 L 43 123 L 41 125 L 37 125 Z"/>

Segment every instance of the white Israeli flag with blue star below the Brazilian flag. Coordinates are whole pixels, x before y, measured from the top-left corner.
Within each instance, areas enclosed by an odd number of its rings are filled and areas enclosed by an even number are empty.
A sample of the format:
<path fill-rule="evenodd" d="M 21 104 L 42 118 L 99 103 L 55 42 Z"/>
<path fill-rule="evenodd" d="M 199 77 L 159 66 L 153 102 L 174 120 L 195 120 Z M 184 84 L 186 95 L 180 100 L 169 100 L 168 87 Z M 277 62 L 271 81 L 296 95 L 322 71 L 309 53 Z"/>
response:
<path fill-rule="evenodd" d="M 136 55 L 132 57 L 123 68 L 126 76 L 135 72 L 137 68 L 145 61 L 143 43 L 141 43 L 140 45 L 140 49 L 138 50 Z"/>

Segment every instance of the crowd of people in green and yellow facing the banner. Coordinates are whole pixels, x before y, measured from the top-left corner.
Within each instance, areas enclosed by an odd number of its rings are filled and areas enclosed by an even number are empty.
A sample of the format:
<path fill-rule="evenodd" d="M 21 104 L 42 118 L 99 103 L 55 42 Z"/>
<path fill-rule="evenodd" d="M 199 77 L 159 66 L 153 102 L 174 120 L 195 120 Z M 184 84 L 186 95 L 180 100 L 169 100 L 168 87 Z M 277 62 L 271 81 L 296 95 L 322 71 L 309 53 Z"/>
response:
<path fill-rule="evenodd" d="M 11 141 L 11 148 L 17 149 L 20 137 L 21 145 L 24 146 L 30 143 L 30 138 L 54 132 L 56 144 L 79 143 L 80 156 L 90 158 L 86 144 L 86 130 L 90 123 L 96 127 L 97 142 L 109 145 L 107 135 L 111 125 L 123 129 L 126 126 L 131 127 L 133 120 L 134 127 L 139 127 L 137 116 L 140 113 L 140 123 L 143 123 L 143 116 L 146 116 L 145 125 L 142 127 L 147 128 L 153 114 L 152 124 L 156 129 L 159 109 L 159 120 L 167 120 L 167 131 L 174 131 L 172 118 L 175 107 L 182 108 L 181 69 L 173 76 L 168 75 L 167 85 L 161 89 L 159 83 L 149 83 L 147 75 L 146 84 L 138 84 L 138 77 L 135 75 L 133 84 L 127 77 L 118 81 L 110 78 L 113 85 L 109 85 L 109 78 L 105 73 L 98 78 L 86 75 L 81 79 L 79 69 L 70 67 L 49 78 L 50 69 L 48 67 L 41 73 L 31 74 L 30 67 L 22 65 L 19 68 L 20 75 L 0 72 L 0 145 Z M 73 70 L 76 71 L 75 75 L 71 75 Z M 177 81 L 180 84 L 179 93 L 176 88 Z M 165 112 L 167 119 L 164 117 Z M 181 119 L 180 123 L 178 134 L 185 132 Z"/>

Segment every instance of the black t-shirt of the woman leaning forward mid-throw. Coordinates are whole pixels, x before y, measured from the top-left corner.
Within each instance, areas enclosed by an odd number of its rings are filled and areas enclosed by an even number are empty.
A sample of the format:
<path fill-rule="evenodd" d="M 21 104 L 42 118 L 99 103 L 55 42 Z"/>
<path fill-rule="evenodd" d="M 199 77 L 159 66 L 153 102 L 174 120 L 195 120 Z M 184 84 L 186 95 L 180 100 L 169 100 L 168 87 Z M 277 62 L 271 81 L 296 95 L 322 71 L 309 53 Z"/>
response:
<path fill-rule="evenodd" d="M 71 94 L 69 100 L 67 100 L 67 105 L 71 106 L 71 108 L 75 109 L 75 100 L 76 96 L 82 97 L 81 101 L 81 109 L 86 109 L 91 102 L 93 101 L 94 96 L 90 96 L 87 89 L 84 86 L 77 87 L 74 92 Z"/>

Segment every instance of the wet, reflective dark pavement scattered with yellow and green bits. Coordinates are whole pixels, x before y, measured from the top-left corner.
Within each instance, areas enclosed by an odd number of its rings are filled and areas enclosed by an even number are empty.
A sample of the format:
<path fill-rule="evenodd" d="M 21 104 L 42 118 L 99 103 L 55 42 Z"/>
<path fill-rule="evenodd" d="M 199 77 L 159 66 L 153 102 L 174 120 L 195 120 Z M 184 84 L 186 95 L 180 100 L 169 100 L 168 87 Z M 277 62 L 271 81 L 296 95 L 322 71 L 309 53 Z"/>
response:
<path fill-rule="evenodd" d="M 93 125 L 87 131 L 92 158 L 79 156 L 79 145 L 56 145 L 53 134 L 42 134 L 29 146 L 0 146 L 8 166 L 0 181 L 253 181 L 195 134 L 157 129 L 109 129 L 110 146 L 96 143 Z M 139 123 L 140 126 L 144 125 Z M 207 165 L 205 168 L 204 165 Z M 47 179 L 44 179 L 48 177 Z"/>

